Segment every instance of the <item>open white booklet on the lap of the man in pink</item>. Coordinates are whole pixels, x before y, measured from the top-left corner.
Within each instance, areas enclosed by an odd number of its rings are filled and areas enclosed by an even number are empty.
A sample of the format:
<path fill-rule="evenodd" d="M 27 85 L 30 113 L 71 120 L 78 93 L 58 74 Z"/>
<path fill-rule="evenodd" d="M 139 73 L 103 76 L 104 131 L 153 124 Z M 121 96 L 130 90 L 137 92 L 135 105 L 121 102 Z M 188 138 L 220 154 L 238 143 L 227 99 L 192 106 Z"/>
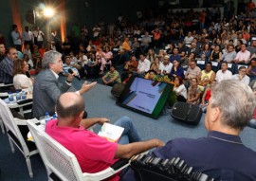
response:
<path fill-rule="evenodd" d="M 124 128 L 114 124 L 104 123 L 99 132 L 99 136 L 105 137 L 110 142 L 118 142 Z"/>

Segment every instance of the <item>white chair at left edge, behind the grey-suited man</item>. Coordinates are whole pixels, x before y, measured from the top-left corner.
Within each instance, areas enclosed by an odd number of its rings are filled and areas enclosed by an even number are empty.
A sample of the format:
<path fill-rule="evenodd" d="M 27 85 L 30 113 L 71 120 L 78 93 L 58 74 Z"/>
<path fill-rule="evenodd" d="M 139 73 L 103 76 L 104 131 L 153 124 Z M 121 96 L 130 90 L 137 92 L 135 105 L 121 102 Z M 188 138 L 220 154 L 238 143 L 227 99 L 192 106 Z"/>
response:
<path fill-rule="evenodd" d="M 6 126 L 7 133 L 9 136 L 9 145 L 12 153 L 14 153 L 14 146 L 20 150 L 27 162 L 27 169 L 29 172 L 29 176 L 33 177 L 33 172 L 31 168 L 30 156 L 33 154 L 38 154 L 38 150 L 35 144 L 31 141 L 27 141 L 27 121 L 21 118 L 13 118 L 9 107 L 7 106 L 4 100 L 0 100 L 0 110 L 1 110 L 1 118 Z M 36 118 L 30 119 L 32 122 L 39 122 Z M 25 129 L 24 129 L 25 128 Z M 25 132 L 24 132 L 25 131 Z"/>

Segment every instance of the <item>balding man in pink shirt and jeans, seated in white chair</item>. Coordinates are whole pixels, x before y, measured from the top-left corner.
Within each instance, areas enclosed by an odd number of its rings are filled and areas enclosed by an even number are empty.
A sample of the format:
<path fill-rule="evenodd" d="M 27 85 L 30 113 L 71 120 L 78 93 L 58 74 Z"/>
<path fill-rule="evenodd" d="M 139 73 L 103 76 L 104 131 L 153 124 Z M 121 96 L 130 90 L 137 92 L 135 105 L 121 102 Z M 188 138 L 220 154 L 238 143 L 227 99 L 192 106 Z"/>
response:
<path fill-rule="evenodd" d="M 87 130 L 95 123 L 103 124 L 109 119 L 82 119 L 84 107 L 81 96 L 75 93 L 64 93 L 56 104 L 58 119 L 52 119 L 46 124 L 46 133 L 76 155 L 82 172 L 101 172 L 119 158 L 129 159 L 135 154 L 164 145 L 158 139 L 141 141 L 133 121 L 128 117 L 119 118 L 115 123 L 124 128 L 119 143 L 110 142 Z M 119 172 L 106 180 L 119 180 L 120 174 Z M 127 181 L 134 179 L 130 174 L 124 174 L 121 177 L 121 180 Z"/>

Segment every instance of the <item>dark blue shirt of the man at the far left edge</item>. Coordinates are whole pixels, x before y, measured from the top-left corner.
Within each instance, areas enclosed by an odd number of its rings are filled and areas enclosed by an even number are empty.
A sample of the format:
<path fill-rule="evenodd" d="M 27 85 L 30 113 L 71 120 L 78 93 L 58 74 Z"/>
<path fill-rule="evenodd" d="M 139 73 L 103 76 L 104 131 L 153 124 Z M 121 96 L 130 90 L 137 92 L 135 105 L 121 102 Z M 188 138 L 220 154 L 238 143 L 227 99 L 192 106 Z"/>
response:
<path fill-rule="evenodd" d="M 12 67 L 13 61 L 6 56 L 0 63 L 0 82 L 1 83 L 12 83 L 13 76 L 12 76 Z"/>

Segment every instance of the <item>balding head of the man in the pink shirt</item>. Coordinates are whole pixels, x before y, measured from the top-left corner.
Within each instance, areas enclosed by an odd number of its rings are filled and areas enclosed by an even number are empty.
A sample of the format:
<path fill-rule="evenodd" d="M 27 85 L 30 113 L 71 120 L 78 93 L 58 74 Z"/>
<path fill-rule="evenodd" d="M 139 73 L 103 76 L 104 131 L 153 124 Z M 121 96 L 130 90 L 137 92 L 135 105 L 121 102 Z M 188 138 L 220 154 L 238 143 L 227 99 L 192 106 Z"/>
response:
<path fill-rule="evenodd" d="M 75 118 L 84 111 L 84 101 L 76 93 L 68 92 L 59 97 L 56 112 L 60 118 Z"/>

